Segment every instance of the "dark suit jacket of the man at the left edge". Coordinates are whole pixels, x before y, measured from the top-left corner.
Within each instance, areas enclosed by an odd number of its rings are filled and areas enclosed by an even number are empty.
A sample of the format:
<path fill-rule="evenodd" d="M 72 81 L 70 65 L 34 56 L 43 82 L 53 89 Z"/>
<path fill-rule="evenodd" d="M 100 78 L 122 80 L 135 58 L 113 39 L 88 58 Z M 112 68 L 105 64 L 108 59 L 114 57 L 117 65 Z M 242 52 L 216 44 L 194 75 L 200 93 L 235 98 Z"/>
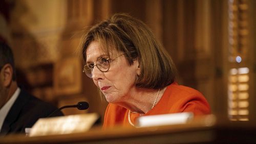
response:
<path fill-rule="evenodd" d="M 57 108 L 53 105 L 43 102 L 24 90 L 20 93 L 8 112 L 2 126 L 0 135 L 10 133 L 25 133 L 25 128 L 31 128 L 41 117 L 47 117 Z M 61 116 L 61 111 L 52 116 Z"/>

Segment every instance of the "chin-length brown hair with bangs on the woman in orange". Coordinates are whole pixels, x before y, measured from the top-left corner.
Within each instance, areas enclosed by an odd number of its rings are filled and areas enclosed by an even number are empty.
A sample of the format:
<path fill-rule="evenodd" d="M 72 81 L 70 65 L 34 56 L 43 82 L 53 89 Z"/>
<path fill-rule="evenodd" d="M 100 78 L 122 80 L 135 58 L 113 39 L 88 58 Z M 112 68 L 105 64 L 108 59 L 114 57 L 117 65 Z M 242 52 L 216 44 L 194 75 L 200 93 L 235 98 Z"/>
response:
<path fill-rule="evenodd" d="M 125 53 L 130 65 L 138 59 L 141 74 L 136 86 L 139 88 L 159 89 L 175 81 L 176 68 L 172 58 L 145 23 L 128 14 L 114 14 L 84 34 L 82 57 L 85 62 L 87 47 L 92 41 L 98 41 L 108 55 L 111 48 Z"/>

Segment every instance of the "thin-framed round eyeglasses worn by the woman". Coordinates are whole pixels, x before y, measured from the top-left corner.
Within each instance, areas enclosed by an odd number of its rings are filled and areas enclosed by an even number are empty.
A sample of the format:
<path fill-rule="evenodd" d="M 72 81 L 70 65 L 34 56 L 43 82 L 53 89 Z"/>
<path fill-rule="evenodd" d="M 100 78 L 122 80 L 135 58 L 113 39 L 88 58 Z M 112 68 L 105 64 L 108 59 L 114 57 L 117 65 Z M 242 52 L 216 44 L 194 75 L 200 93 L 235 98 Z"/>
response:
<path fill-rule="evenodd" d="M 120 56 L 124 55 L 125 53 L 121 54 Z M 120 57 L 118 56 L 118 57 Z M 93 68 L 96 65 L 97 68 L 102 72 L 107 72 L 110 69 L 110 62 L 114 61 L 118 57 L 114 59 L 100 57 L 97 59 L 95 63 L 86 64 L 83 66 L 82 73 L 86 74 L 89 78 L 93 76 Z"/>

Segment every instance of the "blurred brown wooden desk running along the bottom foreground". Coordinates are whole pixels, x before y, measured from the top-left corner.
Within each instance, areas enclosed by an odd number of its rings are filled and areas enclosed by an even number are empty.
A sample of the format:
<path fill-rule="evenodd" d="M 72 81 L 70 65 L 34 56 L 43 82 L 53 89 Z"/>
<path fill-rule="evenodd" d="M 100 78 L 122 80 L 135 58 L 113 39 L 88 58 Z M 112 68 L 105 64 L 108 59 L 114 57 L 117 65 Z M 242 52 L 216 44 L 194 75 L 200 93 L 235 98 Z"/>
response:
<path fill-rule="evenodd" d="M 0 143 L 256 143 L 252 122 L 220 122 L 209 115 L 184 125 L 115 128 L 88 132 L 25 137 L 8 135 Z"/>

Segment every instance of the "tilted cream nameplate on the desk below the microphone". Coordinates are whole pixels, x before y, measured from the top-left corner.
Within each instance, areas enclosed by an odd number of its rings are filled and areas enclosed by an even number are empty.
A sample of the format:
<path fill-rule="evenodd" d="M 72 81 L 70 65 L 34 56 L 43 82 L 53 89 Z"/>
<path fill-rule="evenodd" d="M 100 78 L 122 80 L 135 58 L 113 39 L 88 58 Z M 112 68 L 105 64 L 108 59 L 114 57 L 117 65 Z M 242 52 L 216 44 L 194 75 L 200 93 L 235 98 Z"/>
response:
<path fill-rule="evenodd" d="M 99 118 L 96 113 L 39 118 L 29 136 L 69 134 L 88 131 Z"/>

